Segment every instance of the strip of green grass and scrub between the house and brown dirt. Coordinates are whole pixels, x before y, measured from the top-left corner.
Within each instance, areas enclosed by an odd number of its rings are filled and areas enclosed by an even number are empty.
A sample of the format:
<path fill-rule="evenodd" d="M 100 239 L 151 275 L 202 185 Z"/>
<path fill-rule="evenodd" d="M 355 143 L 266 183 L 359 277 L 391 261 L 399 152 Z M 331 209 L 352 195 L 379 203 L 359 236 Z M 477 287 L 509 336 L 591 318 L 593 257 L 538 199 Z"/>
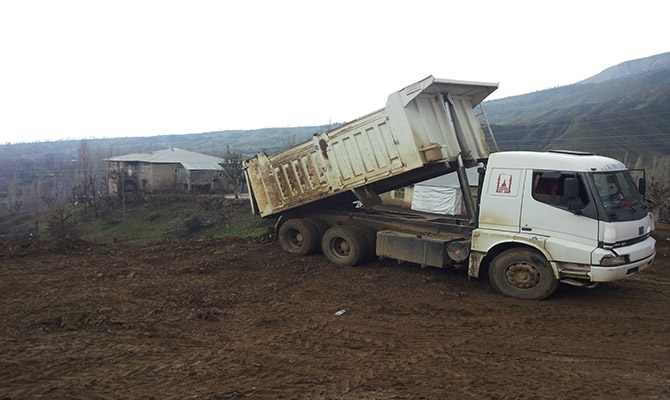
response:
<path fill-rule="evenodd" d="M 93 243 L 146 244 L 162 240 L 183 240 L 194 237 L 256 237 L 272 228 L 274 221 L 252 215 L 248 200 L 220 197 L 154 196 L 150 200 L 128 204 L 125 213 L 112 201 L 101 207 L 100 217 L 84 215 L 84 210 L 69 210 L 68 223 L 73 223 L 76 236 Z M 0 218 L 3 237 L 51 240 L 48 222 L 52 213 L 35 216 L 29 213 Z"/>

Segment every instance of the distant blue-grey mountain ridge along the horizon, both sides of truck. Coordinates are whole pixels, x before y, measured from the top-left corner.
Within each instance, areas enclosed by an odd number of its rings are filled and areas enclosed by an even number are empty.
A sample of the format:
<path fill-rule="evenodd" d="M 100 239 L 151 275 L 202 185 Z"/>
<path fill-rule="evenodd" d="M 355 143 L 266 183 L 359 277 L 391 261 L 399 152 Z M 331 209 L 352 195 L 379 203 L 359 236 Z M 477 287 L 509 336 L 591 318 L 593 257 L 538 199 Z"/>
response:
<path fill-rule="evenodd" d="M 670 52 L 626 61 L 571 85 L 489 100 L 483 105 L 501 150 L 566 148 L 615 157 L 626 152 L 667 155 Z M 230 147 L 252 156 L 258 151 L 279 151 L 332 126 L 86 140 L 102 157 L 170 147 L 213 156 L 221 156 Z M 0 157 L 74 159 L 81 141 L 0 145 Z"/>

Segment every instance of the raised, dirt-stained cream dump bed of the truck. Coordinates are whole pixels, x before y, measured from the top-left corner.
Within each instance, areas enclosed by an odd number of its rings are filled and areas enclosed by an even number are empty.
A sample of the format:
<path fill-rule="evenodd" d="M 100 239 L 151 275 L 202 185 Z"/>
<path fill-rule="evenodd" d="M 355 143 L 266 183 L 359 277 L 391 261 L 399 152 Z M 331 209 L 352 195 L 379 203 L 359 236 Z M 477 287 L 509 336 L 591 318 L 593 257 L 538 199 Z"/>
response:
<path fill-rule="evenodd" d="M 432 76 L 388 96 L 386 107 L 311 140 L 244 162 L 254 213 L 376 198 L 488 158 L 475 107 L 493 83 Z"/>

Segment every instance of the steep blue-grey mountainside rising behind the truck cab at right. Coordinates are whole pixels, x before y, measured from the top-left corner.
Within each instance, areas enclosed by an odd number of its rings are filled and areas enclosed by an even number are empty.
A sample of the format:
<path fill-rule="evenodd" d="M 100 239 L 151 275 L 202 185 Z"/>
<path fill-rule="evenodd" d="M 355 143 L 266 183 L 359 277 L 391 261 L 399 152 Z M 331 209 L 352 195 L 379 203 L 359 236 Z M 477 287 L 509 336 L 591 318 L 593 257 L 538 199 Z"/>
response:
<path fill-rule="evenodd" d="M 484 107 L 501 150 L 561 148 L 629 159 L 668 155 L 670 53 Z"/>

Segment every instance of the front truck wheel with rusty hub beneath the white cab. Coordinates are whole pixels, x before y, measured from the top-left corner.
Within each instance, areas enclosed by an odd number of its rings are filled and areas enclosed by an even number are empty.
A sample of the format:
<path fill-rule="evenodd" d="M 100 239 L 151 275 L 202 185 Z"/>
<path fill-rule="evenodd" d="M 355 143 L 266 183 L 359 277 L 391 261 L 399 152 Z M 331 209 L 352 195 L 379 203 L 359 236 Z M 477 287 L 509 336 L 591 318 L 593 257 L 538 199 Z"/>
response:
<path fill-rule="evenodd" d="M 551 266 L 531 249 L 500 253 L 489 266 L 491 284 L 502 294 L 527 300 L 542 300 L 558 287 Z"/>

